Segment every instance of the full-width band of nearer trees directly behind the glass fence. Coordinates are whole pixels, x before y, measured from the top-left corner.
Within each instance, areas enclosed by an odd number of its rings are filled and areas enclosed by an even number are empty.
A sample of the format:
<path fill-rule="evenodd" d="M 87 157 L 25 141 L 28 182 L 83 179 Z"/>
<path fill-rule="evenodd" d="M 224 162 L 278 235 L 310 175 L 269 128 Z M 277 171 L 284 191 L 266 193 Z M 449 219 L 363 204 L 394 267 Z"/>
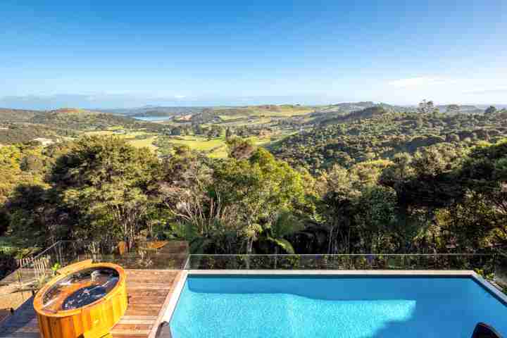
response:
<path fill-rule="evenodd" d="M 389 160 L 334 163 L 314 176 L 251 142 L 230 137 L 228 145 L 223 159 L 177 146 L 163 160 L 115 137 L 1 147 L 1 243 L 132 247 L 146 237 L 179 238 L 202 253 L 507 245 L 507 142 L 442 141 Z"/>

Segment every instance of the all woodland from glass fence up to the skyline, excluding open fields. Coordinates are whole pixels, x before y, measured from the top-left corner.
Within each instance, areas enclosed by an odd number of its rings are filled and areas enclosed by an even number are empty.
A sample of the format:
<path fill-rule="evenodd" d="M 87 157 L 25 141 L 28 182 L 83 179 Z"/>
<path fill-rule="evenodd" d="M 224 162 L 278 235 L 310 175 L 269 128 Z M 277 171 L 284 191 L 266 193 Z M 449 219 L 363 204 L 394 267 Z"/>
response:
<path fill-rule="evenodd" d="M 450 105 L 440 113 L 429 101 L 403 113 L 373 103 L 329 106 L 280 116 L 279 126 L 302 131 L 268 151 L 241 137 L 270 132 L 273 123 L 241 125 L 236 118 L 249 120 L 238 115 L 245 109 L 204 111 L 192 125 L 184 117 L 165 127 L 127 121 L 165 133 L 225 133 L 227 158 L 220 159 L 163 136 L 158 158 L 114 137 L 22 144 L 36 134 L 62 140 L 125 121 L 73 110 L 4 112 L 0 251 L 28 248 L 23 254 L 59 239 L 131 248 L 149 237 L 187 239 L 194 253 L 507 246 L 507 111 L 465 114 L 467 107 Z M 217 121 L 234 130 L 209 124 Z"/>

